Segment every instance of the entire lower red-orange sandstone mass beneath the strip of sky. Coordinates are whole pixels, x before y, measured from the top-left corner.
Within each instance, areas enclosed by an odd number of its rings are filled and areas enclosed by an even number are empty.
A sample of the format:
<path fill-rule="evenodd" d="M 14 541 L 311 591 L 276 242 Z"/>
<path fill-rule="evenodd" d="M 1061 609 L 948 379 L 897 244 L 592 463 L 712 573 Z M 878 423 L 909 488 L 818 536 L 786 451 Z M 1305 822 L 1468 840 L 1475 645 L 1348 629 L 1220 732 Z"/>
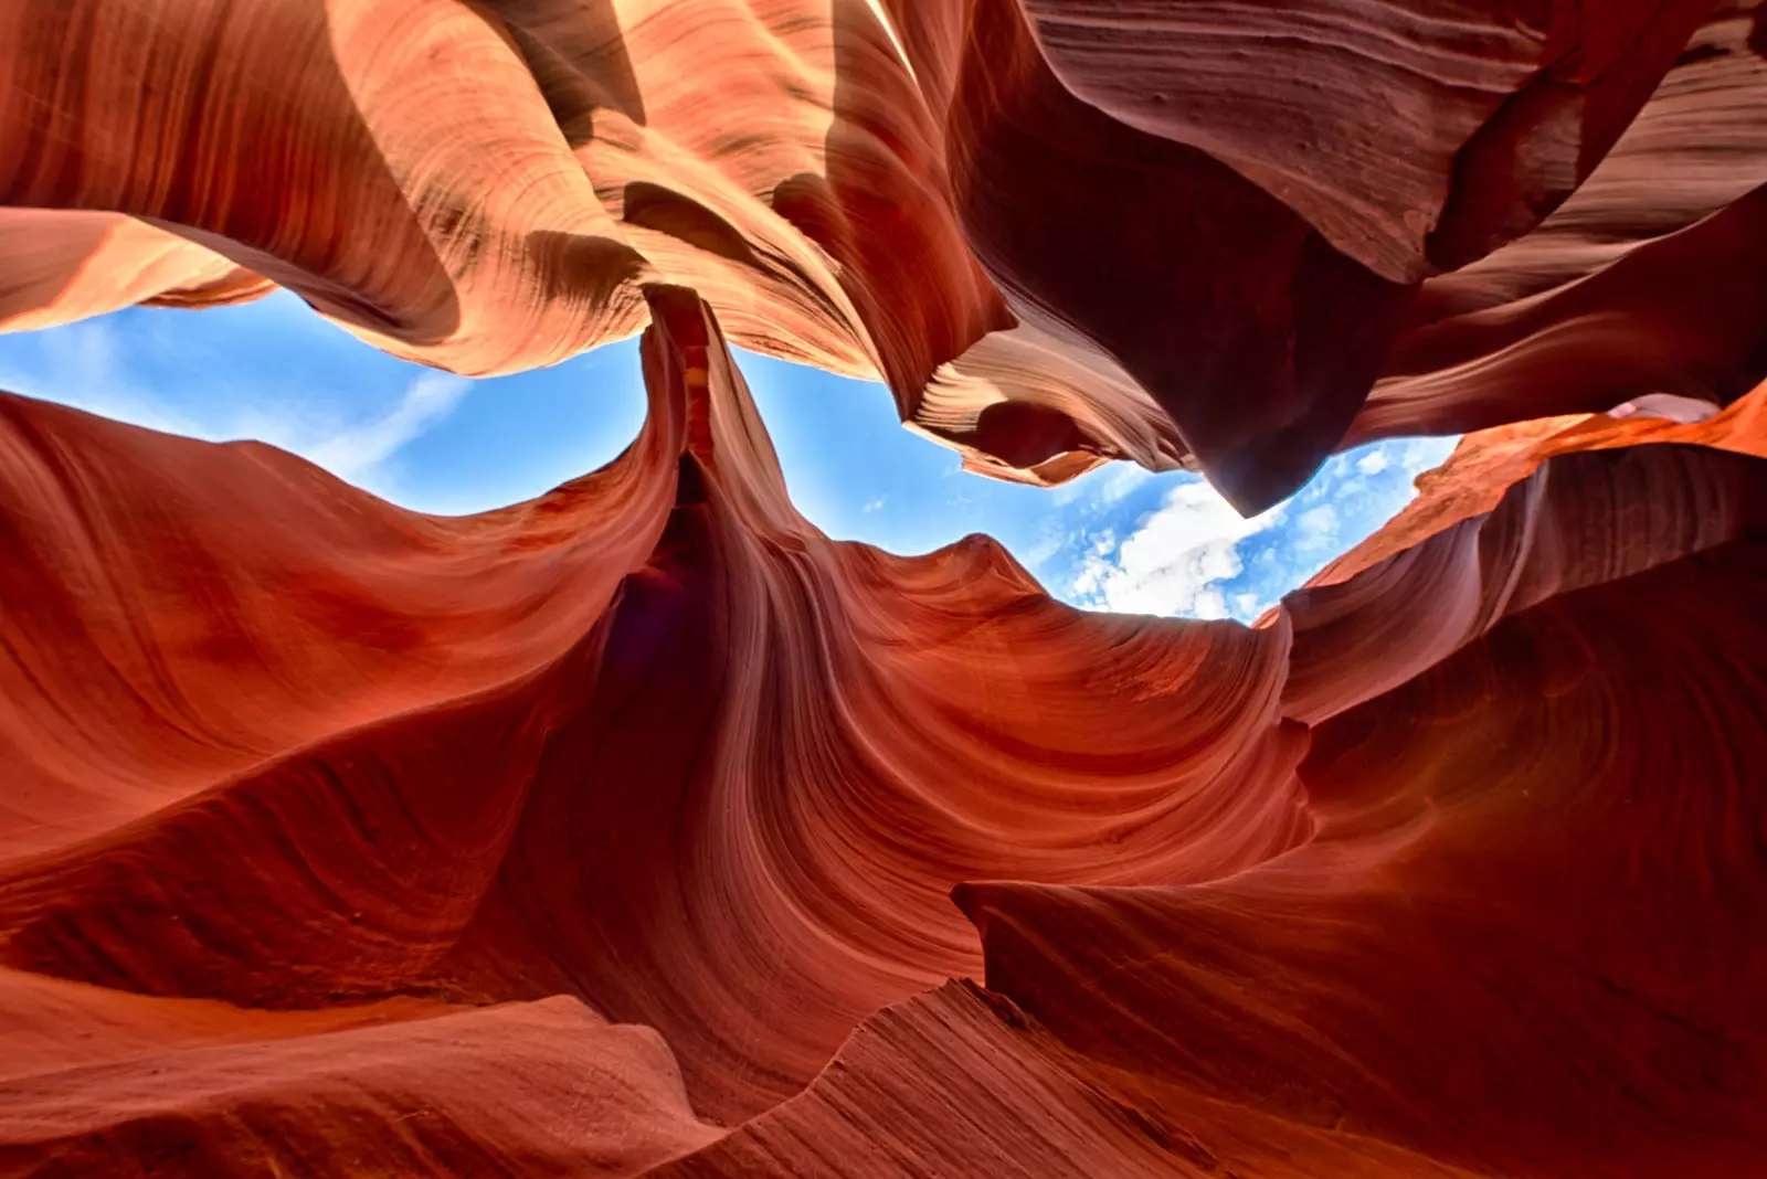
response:
<path fill-rule="evenodd" d="M 5 402 L 0 1172 L 1767 1165 L 1767 388 L 1242 628 L 829 542 L 647 300 L 475 517 Z"/>

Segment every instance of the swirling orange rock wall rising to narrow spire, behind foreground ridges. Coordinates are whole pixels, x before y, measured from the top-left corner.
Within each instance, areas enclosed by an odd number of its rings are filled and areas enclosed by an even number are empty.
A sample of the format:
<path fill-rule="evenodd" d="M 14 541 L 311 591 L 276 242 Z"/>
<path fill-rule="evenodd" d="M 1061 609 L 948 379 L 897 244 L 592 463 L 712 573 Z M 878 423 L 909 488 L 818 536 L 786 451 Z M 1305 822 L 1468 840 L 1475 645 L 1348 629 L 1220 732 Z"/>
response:
<path fill-rule="evenodd" d="M 1285 630 L 1083 614 L 979 537 L 829 542 L 703 305 L 648 297 L 640 439 L 477 517 L 7 404 L 0 960 L 246 1011 L 567 994 L 730 1123 L 979 969 L 963 879 L 1306 837 Z"/>

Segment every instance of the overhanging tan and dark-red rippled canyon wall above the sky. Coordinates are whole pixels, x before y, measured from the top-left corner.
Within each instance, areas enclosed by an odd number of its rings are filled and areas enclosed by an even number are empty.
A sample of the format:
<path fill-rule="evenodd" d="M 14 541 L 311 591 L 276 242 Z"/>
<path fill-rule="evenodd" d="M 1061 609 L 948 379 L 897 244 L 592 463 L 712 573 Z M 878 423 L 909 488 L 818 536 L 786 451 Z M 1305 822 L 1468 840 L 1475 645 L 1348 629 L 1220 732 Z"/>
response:
<path fill-rule="evenodd" d="M 1249 512 L 1346 432 L 1767 376 L 1760 28 L 1732 0 L 12 0 L 0 325 L 284 284 L 489 374 L 677 282 L 739 344 L 882 376 L 975 469 L 1194 462 Z"/>

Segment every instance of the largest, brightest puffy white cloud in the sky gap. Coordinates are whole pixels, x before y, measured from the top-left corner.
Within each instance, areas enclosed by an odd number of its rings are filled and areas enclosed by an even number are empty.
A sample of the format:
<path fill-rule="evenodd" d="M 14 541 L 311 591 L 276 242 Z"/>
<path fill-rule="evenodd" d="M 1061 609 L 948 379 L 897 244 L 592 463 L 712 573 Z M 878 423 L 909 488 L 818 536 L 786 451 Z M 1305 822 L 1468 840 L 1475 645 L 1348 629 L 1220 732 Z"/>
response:
<path fill-rule="evenodd" d="M 1216 582 L 1237 577 L 1239 542 L 1283 521 L 1276 507 L 1242 517 L 1202 480 L 1179 484 L 1120 545 L 1094 542 L 1074 575 L 1073 591 L 1088 605 L 1129 614 L 1226 618 Z M 1115 542 L 1115 535 L 1101 535 Z"/>

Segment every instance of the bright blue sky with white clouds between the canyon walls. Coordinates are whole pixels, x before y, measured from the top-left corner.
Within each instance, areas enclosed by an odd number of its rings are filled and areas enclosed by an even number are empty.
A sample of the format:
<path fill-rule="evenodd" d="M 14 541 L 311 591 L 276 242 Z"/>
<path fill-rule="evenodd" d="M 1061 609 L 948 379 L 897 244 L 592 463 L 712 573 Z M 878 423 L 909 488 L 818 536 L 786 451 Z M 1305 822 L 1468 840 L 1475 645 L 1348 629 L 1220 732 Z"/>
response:
<path fill-rule="evenodd" d="M 1249 621 L 1398 512 L 1454 441 L 1336 455 L 1248 521 L 1194 475 L 1126 462 L 1055 491 L 968 475 L 901 429 L 876 385 L 749 353 L 739 364 L 793 501 L 830 537 L 926 552 L 990 533 L 1050 593 L 1092 609 Z M 375 351 L 288 293 L 0 335 L 0 388 L 194 438 L 258 438 L 440 514 L 537 496 L 611 459 L 643 418 L 636 341 L 474 381 Z"/>

